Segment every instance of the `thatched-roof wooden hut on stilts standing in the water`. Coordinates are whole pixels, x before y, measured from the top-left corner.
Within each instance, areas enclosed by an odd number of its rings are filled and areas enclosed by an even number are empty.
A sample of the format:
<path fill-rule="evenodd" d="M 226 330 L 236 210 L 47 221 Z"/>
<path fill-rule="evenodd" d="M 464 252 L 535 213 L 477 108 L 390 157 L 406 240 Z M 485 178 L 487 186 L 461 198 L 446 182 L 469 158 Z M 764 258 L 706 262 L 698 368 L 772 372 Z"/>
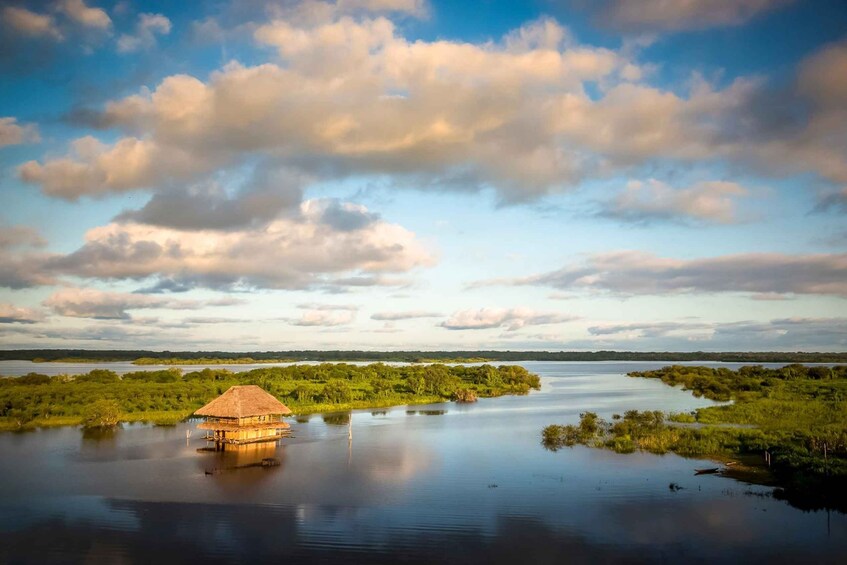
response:
<path fill-rule="evenodd" d="M 242 385 L 230 387 L 194 414 L 206 418 L 197 427 L 207 430 L 207 440 L 243 445 L 285 437 L 290 426 L 281 417 L 291 410 L 260 387 Z"/>

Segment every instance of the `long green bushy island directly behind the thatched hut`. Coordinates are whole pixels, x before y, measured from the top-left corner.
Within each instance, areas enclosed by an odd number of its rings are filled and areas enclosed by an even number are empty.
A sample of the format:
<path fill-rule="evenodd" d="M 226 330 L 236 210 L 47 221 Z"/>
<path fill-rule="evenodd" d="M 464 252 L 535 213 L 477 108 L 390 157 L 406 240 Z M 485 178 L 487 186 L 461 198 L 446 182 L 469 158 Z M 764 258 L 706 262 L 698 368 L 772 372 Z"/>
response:
<path fill-rule="evenodd" d="M 95 369 L 82 375 L 30 373 L 0 378 L 0 431 L 45 426 L 175 424 L 233 385 L 259 385 L 295 414 L 429 404 L 538 390 L 541 380 L 523 367 L 344 363 L 261 367 L 232 372 L 176 367 L 118 376 Z M 97 414 L 92 412 L 96 411 Z M 107 413 L 108 418 L 99 416 Z"/>

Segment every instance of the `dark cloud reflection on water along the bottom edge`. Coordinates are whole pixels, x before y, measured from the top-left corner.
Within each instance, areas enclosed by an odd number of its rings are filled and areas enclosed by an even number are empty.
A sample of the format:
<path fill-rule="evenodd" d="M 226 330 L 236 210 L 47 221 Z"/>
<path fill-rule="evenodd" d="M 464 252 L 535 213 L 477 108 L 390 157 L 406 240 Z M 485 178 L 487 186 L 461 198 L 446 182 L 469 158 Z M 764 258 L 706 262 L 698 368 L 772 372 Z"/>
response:
<path fill-rule="evenodd" d="M 309 563 L 396 563 L 402 556 L 402 561 L 409 563 L 705 563 L 731 555 L 728 549 L 739 548 L 743 548 L 745 562 L 836 562 L 825 546 L 778 548 L 757 543 L 755 527 L 747 535 L 736 533 L 737 537 L 716 540 L 708 516 L 685 543 L 678 538 L 662 543 L 661 524 L 658 529 L 648 528 L 660 534 L 658 540 L 624 535 L 618 543 L 609 543 L 576 528 L 555 527 L 526 515 L 495 514 L 490 531 L 474 523 L 445 529 L 386 525 L 357 529 L 351 537 L 347 524 L 362 516 L 341 507 L 115 499 L 103 503 L 102 519 L 56 516 L 0 532 L 0 562 L 222 563 L 299 558 Z M 639 506 L 610 510 L 651 524 L 651 517 L 645 517 Z M 123 519 L 111 520 L 114 516 Z M 613 513 L 606 517 L 612 518 Z M 721 533 L 726 533 L 725 529 Z M 25 558 L 18 553 L 21 548 L 27 550 Z"/>

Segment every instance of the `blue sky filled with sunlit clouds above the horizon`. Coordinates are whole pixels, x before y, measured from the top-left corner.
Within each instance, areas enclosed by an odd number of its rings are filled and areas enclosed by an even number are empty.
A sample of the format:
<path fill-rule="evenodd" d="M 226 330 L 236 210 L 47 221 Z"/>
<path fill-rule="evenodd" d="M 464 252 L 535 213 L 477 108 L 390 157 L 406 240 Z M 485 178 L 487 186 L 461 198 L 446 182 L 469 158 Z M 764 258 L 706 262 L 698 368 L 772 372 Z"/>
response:
<path fill-rule="evenodd" d="M 0 348 L 845 351 L 847 3 L 5 1 Z"/>

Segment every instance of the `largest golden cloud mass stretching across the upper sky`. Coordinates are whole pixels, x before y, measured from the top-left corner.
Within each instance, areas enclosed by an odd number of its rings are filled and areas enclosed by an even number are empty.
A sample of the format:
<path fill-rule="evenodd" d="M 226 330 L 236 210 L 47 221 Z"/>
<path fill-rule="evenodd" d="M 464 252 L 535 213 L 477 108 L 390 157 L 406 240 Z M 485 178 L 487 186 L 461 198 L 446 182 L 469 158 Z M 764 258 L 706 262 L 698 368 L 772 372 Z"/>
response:
<path fill-rule="evenodd" d="M 628 49 L 581 45 L 550 19 L 474 44 L 409 41 L 383 17 L 334 18 L 258 27 L 255 39 L 278 61 L 230 63 L 206 80 L 173 75 L 108 103 L 97 121 L 123 137 L 81 138 L 65 157 L 25 163 L 21 178 L 74 199 L 190 182 L 266 157 L 310 174 L 493 187 L 504 201 L 660 161 L 847 183 L 843 43 L 800 65 L 788 96 L 808 112 L 777 120 L 783 101 L 761 79 L 718 88 L 695 77 L 665 90 Z M 693 211 L 679 200 L 663 206 L 726 221 L 714 186 L 689 188 L 701 198 Z"/>

